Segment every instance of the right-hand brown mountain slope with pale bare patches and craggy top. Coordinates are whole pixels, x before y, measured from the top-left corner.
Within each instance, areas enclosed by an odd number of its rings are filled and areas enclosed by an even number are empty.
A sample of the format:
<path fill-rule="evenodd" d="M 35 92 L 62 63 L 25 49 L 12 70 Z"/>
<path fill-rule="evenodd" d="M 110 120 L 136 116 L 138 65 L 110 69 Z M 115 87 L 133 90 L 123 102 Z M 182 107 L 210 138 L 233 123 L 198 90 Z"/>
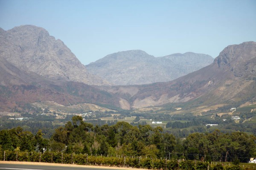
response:
<path fill-rule="evenodd" d="M 166 103 L 238 104 L 256 100 L 256 42 L 229 45 L 214 62 L 171 82 L 105 88 L 122 94 L 124 107 L 144 108 Z"/>

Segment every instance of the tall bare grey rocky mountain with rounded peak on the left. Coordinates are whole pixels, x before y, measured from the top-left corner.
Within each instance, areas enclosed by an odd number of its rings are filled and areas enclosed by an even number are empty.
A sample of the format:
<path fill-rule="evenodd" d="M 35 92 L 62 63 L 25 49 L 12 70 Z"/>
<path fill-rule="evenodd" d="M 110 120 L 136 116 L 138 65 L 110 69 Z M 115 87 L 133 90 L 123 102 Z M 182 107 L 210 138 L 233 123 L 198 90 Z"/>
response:
<path fill-rule="evenodd" d="M 18 26 L 8 31 L 0 28 L 0 58 L 17 68 L 54 80 L 109 84 L 88 74 L 61 40 L 55 40 L 44 28 L 37 26 Z"/>

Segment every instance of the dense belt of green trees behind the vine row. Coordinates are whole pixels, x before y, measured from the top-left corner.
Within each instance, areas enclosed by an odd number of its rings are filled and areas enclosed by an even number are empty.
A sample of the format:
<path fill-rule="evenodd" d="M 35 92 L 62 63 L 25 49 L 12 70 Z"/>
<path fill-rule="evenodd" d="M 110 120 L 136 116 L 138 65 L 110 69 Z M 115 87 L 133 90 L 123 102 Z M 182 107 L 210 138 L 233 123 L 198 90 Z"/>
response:
<path fill-rule="evenodd" d="M 33 135 L 21 127 L 0 131 L 3 150 L 82 153 L 102 156 L 147 156 L 151 159 L 190 159 L 247 162 L 256 156 L 256 137 L 243 132 L 192 133 L 175 138 L 161 127 L 132 126 L 126 122 L 93 126 L 73 116 L 64 127 L 55 129 L 50 140 L 41 130 Z"/>

